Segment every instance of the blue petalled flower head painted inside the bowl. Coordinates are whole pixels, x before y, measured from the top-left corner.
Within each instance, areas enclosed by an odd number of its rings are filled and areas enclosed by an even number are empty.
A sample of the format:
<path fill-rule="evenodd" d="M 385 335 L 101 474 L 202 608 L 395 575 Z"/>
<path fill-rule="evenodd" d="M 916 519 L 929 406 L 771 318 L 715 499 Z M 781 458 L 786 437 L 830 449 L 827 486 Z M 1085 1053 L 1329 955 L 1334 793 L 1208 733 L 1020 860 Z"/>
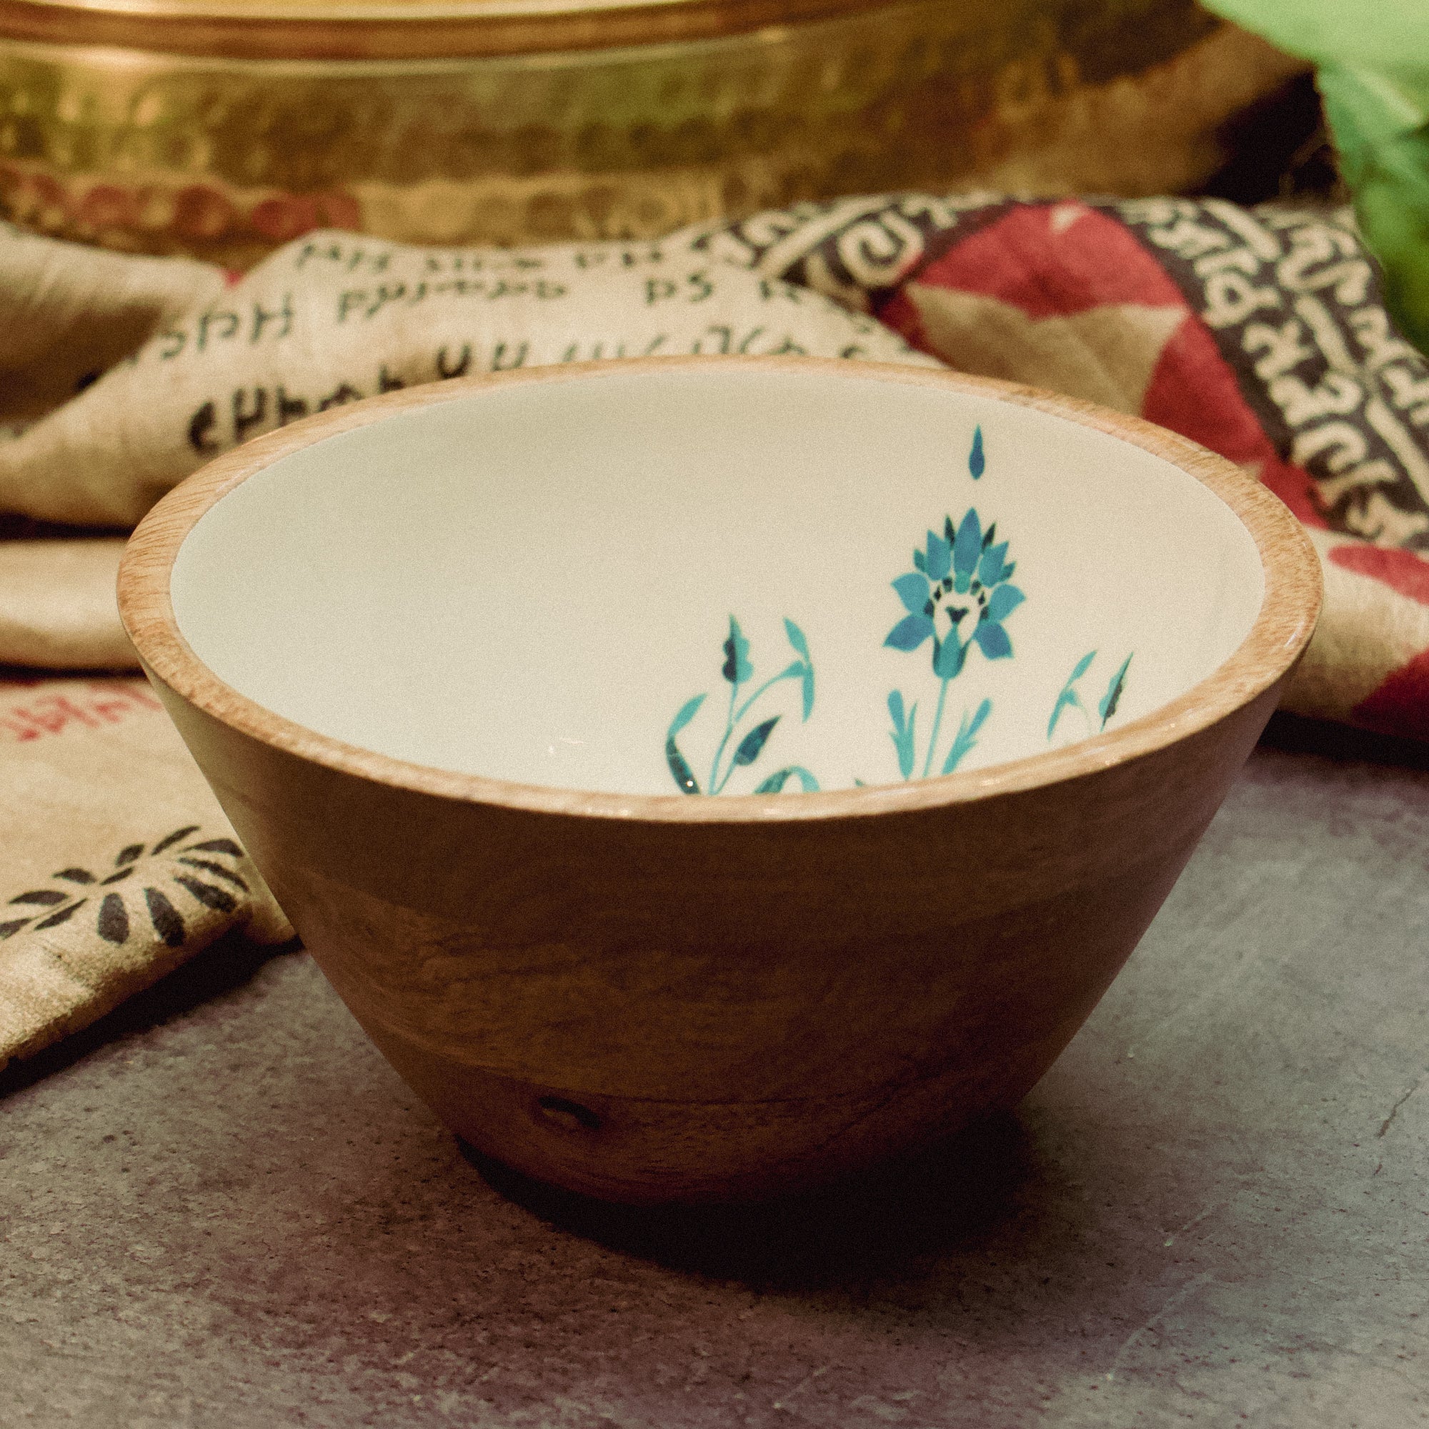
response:
<path fill-rule="evenodd" d="M 1025 597 L 1009 584 L 1016 562 L 1007 560 L 1007 542 L 997 540 L 996 522 L 985 532 L 976 509 L 956 529 L 946 517 L 943 534 L 929 532 L 923 549 L 913 552 L 913 567 L 893 582 L 907 614 L 889 632 L 886 646 L 916 650 L 932 639 L 933 673 L 942 680 L 962 670 L 975 643 L 989 660 L 1012 654 L 1003 622 Z M 942 632 L 940 616 L 947 617 Z"/>

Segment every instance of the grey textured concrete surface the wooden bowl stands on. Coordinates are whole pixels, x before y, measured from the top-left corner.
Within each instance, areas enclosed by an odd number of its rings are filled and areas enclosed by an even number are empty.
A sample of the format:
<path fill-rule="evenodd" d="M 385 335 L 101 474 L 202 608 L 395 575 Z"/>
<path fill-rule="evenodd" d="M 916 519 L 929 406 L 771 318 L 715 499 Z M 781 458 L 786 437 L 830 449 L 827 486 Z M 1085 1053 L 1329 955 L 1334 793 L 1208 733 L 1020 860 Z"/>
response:
<path fill-rule="evenodd" d="M 1276 740 L 1016 1117 L 797 1206 L 483 1173 L 220 949 L 0 1075 L 0 1425 L 1429 1422 L 1429 772 Z"/>

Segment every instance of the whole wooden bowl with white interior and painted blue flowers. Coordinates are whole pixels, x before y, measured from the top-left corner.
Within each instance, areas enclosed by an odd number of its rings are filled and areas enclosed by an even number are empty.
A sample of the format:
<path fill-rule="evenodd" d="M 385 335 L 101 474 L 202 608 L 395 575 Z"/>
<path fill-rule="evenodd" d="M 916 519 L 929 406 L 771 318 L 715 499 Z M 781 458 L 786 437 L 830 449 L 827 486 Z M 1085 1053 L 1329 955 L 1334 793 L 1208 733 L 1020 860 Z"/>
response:
<path fill-rule="evenodd" d="M 143 522 L 120 609 L 416 1092 L 522 1172 L 656 1202 L 1016 1103 L 1240 769 L 1319 572 L 1273 496 L 1136 419 L 684 359 L 260 437 Z"/>

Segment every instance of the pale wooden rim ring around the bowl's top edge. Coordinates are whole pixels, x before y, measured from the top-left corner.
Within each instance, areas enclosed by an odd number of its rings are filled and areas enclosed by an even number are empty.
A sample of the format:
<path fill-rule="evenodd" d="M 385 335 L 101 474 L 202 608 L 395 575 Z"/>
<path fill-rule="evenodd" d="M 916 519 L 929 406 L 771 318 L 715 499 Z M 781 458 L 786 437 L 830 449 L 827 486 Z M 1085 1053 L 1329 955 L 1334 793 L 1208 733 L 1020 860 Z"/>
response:
<path fill-rule="evenodd" d="M 1176 699 L 1115 730 L 985 769 L 903 783 L 717 799 L 526 785 L 380 755 L 320 735 L 240 694 L 199 659 L 179 630 L 170 577 L 180 546 L 210 507 L 282 457 L 402 412 L 457 402 L 500 386 L 599 380 L 642 372 L 726 370 L 730 364 L 756 372 L 820 372 L 937 387 L 1032 407 L 1129 442 L 1200 482 L 1239 519 L 1260 557 L 1265 579 L 1260 612 L 1240 644 L 1210 674 Z M 333 407 L 254 437 L 194 472 L 139 523 L 119 570 L 120 619 L 150 679 L 263 745 L 339 773 L 440 799 L 527 813 L 656 823 L 786 823 L 905 813 L 1057 785 L 1136 760 L 1210 727 L 1280 680 L 1309 643 L 1320 599 L 1319 557 L 1289 507 L 1248 472 L 1175 432 L 1076 397 L 990 377 L 823 357 L 693 356 L 569 363 L 459 377 Z"/>

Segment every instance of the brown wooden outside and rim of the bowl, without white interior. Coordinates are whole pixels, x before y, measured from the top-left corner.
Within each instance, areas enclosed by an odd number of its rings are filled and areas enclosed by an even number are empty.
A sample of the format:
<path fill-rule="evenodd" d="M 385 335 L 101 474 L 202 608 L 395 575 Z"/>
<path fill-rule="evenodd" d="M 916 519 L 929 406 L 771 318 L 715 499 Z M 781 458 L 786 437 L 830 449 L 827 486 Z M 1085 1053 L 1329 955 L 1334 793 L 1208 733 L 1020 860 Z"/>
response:
<path fill-rule="evenodd" d="M 770 1195 L 1016 1103 L 1155 916 L 1319 606 L 1318 563 L 1285 507 L 1169 432 L 952 373 L 827 363 L 1036 407 L 1172 462 L 1259 550 L 1250 633 L 1180 697 L 1077 745 L 897 786 L 735 799 L 404 763 L 273 714 L 186 644 L 169 593 L 181 542 L 282 456 L 489 383 L 727 362 L 514 373 L 324 413 L 174 490 L 120 576 L 154 687 L 389 1060 L 474 1146 L 619 1200 Z"/>

